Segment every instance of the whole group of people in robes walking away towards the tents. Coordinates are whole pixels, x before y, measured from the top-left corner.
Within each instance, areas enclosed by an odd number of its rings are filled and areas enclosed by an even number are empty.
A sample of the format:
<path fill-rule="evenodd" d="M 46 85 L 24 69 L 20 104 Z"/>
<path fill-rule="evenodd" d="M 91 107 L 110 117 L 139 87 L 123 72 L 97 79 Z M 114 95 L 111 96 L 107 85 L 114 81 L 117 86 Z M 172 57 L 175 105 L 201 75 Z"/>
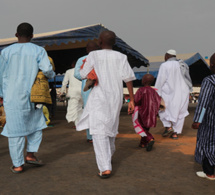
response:
<path fill-rule="evenodd" d="M 22 173 L 24 164 L 42 166 L 35 156 L 42 140 L 42 129 L 46 120 L 42 107 L 31 102 L 31 88 L 38 71 L 47 78 L 55 72 L 44 48 L 31 43 L 33 27 L 21 23 L 17 27 L 18 43 L 1 51 L 0 55 L 0 97 L 3 100 L 6 123 L 2 135 L 8 137 L 13 173 Z M 115 138 L 118 134 L 119 116 L 123 104 L 123 82 L 129 92 L 128 114 L 132 114 L 135 131 L 141 136 L 139 146 L 151 151 L 155 139 L 149 132 L 156 126 L 157 117 L 165 127 L 163 137 L 177 140 L 182 133 L 188 113 L 189 94 L 192 81 L 189 67 L 176 58 L 171 49 L 165 54 L 155 87 L 155 78 L 146 74 L 143 87 L 133 94 L 135 74 L 127 56 L 113 50 L 116 35 L 112 31 L 101 32 L 98 45 L 90 41 L 88 55 L 78 59 L 65 74 L 61 95 L 69 84 L 66 119 L 74 122 L 77 131 L 87 131 L 87 141 L 93 144 L 100 178 L 109 178 L 112 172 L 112 156 L 115 152 Z M 210 58 L 210 68 L 215 73 L 215 54 Z M 215 125 L 214 96 L 215 76 L 202 82 L 199 103 L 192 127 L 198 129 L 196 161 L 203 171 L 197 176 L 215 180 Z M 16 98 L 14 98 L 16 97 Z M 25 137 L 27 137 L 24 156 Z"/>

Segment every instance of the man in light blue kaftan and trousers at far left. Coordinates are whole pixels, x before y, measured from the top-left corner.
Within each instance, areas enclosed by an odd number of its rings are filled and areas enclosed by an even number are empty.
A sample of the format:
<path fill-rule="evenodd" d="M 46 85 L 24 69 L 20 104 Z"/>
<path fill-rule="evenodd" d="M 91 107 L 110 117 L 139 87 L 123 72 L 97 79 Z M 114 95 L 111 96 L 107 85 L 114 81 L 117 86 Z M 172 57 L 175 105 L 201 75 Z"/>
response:
<path fill-rule="evenodd" d="M 44 48 L 30 43 L 33 27 L 22 23 L 17 27 L 18 43 L 1 51 L 0 97 L 6 113 L 2 135 L 8 137 L 13 173 L 21 173 L 24 163 L 42 165 L 34 156 L 46 128 L 43 109 L 30 102 L 31 88 L 39 70 L 48 78 L 55 76 Z M 25 137 L 27 155 L 24 158 Z"/>

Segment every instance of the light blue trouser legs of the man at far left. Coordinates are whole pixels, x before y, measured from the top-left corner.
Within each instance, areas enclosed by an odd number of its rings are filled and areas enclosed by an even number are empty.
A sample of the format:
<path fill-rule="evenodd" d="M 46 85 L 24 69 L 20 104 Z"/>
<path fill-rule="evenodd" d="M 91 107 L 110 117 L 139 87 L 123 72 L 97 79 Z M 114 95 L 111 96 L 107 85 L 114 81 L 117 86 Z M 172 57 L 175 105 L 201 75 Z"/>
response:
<path fill-rule="evenodd" d="M 27 152 L 37 152 L 42 141 L 42 131 L 36 131 L 27 136 Z M 9 137 L 10 157 L 14 167 L 25 164 L 24 147 L 25 137 Z"/>

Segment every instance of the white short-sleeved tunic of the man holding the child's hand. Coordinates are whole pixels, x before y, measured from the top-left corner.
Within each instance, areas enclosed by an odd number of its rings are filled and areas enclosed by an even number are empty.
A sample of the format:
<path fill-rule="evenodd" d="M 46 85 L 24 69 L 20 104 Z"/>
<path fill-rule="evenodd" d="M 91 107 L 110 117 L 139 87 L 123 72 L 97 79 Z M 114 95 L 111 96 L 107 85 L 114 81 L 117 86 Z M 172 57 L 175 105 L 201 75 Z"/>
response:
<path fill-rule="evenodd" d="M 98 77 L 98 85 L 90 92 L 82 118 L 89 116 L 91 133 L 113 137 L 118 133 L 123 81 L 134 80 L 134 72 L 126 55 L 110 49 L 91 52 L 80 72 L 81 76 L 86 77 L 93 68 Z M 88 125 L 85 120 L 82 123 L 81 119 L 77 129 L 89 128 Z"/>

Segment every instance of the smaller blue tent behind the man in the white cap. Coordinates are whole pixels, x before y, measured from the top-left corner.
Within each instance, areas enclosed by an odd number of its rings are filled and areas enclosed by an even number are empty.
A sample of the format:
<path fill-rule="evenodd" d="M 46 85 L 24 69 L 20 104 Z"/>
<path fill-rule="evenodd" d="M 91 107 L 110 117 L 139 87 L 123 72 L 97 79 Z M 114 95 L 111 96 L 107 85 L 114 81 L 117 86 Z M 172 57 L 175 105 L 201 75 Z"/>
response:
<path fill-rule="evenodd" d="M 199 53 L 196 53 L 192 57 L 184 60 L 189 66 L 190 77 L 194 86 L 200 86 L 202 80 L 211 74 L 208 64 L 202 58 Z M 157 78 L 158 71 L 162 62 L 150 63 L 149 73 Z M 133 68 L 135 76 L 138 80 L 147 74 L 147 68 L 142 67 L 141 69 Z M 140 81 L 139 81 L 140 83 Z"/>

